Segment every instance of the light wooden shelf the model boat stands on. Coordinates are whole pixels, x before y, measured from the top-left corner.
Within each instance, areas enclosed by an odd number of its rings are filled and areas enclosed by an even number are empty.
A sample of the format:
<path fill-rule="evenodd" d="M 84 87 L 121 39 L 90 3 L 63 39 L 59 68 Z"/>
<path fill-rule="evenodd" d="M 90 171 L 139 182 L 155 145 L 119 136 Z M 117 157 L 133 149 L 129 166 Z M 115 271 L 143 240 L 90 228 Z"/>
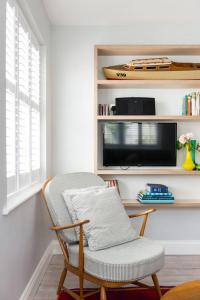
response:
<path fill-rule="evenodd" d="M 187 89 L 200 88 L 200 80 L 97 80 L 99 89 Z"/>

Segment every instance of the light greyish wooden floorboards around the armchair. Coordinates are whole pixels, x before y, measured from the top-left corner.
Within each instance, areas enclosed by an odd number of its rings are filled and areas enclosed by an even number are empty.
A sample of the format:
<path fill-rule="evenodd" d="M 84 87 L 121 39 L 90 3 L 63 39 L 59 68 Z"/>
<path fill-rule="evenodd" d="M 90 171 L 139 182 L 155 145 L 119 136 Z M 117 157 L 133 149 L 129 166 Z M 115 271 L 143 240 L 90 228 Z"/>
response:
<path fill-rule="evenodd" d="M 62 256 L 53 256 L 38 291 L 29 300 L 56 300 L 56 288 L 62 267 Z M 166 256 L 165 267 L 158 276 L 160 284 L 164 286 L 174 286 L 185 281 L 200 279 L 200 256 Z M 144 282 L 151 283 L 151 280 Z M 65 284 L 69 288 L 77 288 L 77 277 L 69 273 Z M 85 287 L 94 287 L 94 285 L 85 282 Z"/>

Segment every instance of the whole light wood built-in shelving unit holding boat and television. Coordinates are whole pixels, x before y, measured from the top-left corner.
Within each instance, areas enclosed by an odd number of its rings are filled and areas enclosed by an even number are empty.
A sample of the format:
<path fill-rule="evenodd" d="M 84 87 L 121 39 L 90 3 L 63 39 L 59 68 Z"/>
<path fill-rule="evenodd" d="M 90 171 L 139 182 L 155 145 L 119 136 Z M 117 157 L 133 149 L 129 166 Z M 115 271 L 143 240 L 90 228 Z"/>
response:
<path fill-rule="evenodd" d="M 95 91 L 95 173 L 102 176 L 200 176 L 200 171 L 185 171 L 181 167 L 166 167 L 166 168 L 144 168 L 135 167 L 128 169 L 108 168 L 100 164 L 102 158 L 100 157 L 102 145 L 101 138 L 99 138 L 100 126 L 104 121 L 172 121 L 172 122 L 200 122 L 200 116 L 182 116 L 182 115 L 155 115 L 155 116 L 99 116 L 98 104 L 99 95 L 102 90 L 111 92 L 113 89 L 127 89 L 127 90 L 146 90 L 146 89 L 195 89 L 200 90 L 200 80 L 106 80 L 101 74 L 99 61 L 101 57 L 118 57 L 118 56 L 176 56 L 176 57 L 200 57 L 200 45 L 98 45 L 95 47 L 94 56 L 94 91 Z M 126 57 L 124 61 L 126 61 Z M 107 60 L 108 61 L 108 60 Z M 109 64 L 107 64 L 109 65 Z M 100 77 L 100 78 L 99 78 Z M 113 92 L 114 92 L 113 90 Z M 105 91 L 103 91 L 105 95 Z M 112 93 L 112 92 L 111 92 Z M 122 92 L 121 92 L 122 94 Z M 172 103 L 169 99 L 169 105 Z M 157 207 L 157 208 L 197 208 L 200 207 L 200 200 L 177 200 L 175 204 L 157 204 L 146 205 L 140 204 L 136 200 L 124 200 L 125 207 L 141 208 L 141 207 Z"/>

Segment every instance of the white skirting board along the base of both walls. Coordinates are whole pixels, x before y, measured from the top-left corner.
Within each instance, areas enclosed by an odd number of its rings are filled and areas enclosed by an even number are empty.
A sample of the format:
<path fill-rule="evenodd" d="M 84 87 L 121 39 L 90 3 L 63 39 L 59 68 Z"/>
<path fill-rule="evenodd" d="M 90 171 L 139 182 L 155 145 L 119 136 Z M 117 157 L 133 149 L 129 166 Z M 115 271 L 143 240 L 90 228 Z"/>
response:
<path fill-rule="evenodd" d="M 165 247 L 166 255 L 200 255 L 200 241 L 198 240 L 159 240 L 158 242 Z M 19 300 L 28 300 L 29 297 L 35 294 L 52 256 L 56 254 L 61 254 L 61 249 L 59 242 L 53 240 L 44 252 Z"/>

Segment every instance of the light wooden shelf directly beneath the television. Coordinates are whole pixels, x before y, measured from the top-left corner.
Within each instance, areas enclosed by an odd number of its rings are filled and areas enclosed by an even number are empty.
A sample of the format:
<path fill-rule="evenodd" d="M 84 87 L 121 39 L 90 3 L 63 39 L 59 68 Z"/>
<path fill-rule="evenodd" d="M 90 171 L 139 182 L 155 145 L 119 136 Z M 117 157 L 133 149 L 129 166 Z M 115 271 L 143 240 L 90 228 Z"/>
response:
<path fill-rule="evenodd" d="M 133 168 L 133 169 L 98 169 L 97 175 L 182 175 L 182 176 L 200 176 L 200 171 L 185 171 L 179 168 Z"/>

